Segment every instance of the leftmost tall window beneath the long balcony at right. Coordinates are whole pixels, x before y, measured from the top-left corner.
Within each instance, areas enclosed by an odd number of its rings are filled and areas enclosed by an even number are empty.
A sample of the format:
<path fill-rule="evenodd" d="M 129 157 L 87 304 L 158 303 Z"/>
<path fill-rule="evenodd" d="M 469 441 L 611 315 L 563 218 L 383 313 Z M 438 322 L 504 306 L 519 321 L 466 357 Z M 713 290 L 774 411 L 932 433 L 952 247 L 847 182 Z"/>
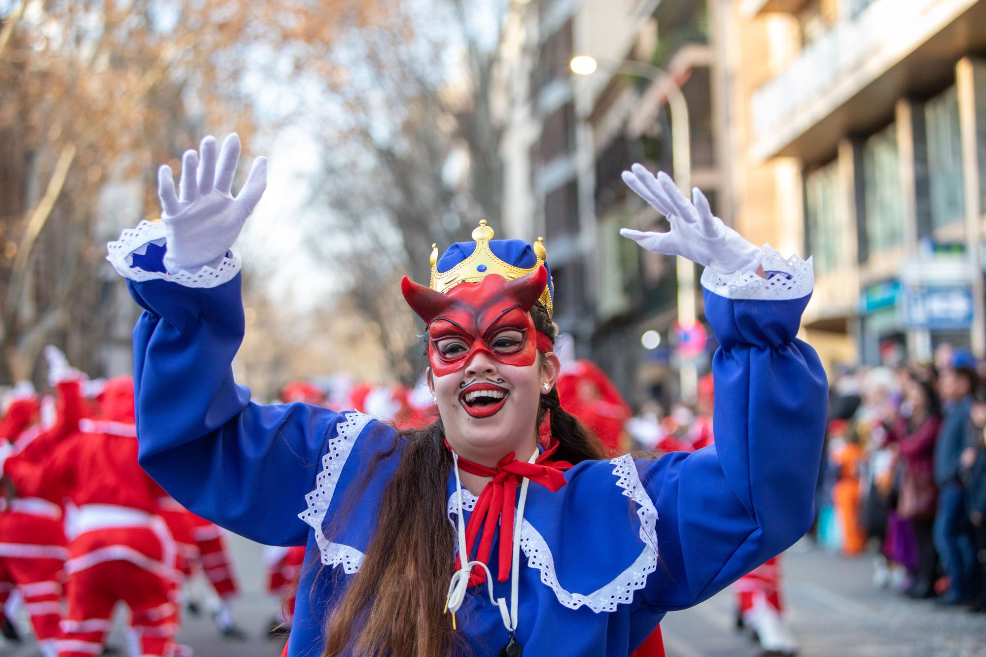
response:
<path fill-rule="evenodd" d="M 844 203 L 838 202 L 838 162 L 810 172 L 805 177 L 805 221 L 808 251 L 815 270 L 829 273 L 849 263 L 850 226 Z"/>

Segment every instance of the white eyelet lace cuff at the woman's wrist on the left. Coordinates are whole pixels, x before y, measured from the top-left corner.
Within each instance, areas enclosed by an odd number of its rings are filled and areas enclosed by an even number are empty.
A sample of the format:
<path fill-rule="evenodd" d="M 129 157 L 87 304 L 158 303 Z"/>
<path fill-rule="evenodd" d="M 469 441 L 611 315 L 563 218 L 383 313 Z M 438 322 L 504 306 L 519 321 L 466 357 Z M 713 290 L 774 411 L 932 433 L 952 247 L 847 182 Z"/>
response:
<path fill-rule="evenodd" d="M 185 287 L 218 287 L 232 280 L 240 272 L 242 262 L 240 252 L 230 249 L 216 267 L 203 266 L 195 273 L 177 271 L 145 271 L 133 266 L 133 254 L 147 253 L 147 245 L 165 239 L 165 225 L 160 221 L 142 221 L 136 228 L 125 229 L 116 242 L 106 245 L 106 259 L 113 268 L 130 280 L 170 280 Z"/>

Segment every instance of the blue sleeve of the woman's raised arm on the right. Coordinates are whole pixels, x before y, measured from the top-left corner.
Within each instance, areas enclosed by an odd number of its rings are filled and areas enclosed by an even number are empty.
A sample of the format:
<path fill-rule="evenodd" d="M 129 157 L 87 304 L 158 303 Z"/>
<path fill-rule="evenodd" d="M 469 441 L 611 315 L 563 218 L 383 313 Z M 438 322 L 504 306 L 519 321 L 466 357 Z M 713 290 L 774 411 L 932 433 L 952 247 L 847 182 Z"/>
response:
<path fill-rule="evenodd" d="M 810 529 L 827 384 L 795 337 L 809 296 L 732 300 L 705 291 L 715 445 L 638 461 L 658 512 L 659 565 L 643 591 L 664 610 L 698 604 Z"/>

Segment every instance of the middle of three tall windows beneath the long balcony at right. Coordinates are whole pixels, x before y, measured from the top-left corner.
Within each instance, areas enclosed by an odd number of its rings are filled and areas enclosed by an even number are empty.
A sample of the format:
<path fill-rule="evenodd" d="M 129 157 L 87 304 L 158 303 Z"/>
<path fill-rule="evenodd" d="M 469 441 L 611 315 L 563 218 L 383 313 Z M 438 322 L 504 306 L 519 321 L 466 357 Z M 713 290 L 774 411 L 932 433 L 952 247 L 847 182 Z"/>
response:
<path fill-rule="evenodd" d="M 892 249 L 904 241 L 904 198 L 896 123 L 866 141 L 863 184 L 866 189 L 866 236 L 869 253 Z"/>

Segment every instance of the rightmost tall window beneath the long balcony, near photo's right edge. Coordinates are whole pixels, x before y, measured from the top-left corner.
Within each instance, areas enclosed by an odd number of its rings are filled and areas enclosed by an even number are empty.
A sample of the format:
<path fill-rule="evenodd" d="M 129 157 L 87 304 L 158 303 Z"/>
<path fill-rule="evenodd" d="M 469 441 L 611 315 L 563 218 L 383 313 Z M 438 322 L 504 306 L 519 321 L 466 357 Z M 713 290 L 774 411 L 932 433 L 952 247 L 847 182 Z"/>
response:
<path fill-rule="evenodd" d="M 962 146 L 958 125 L 958 93 L 954 86 L 925 105 L 928 126 L 928 183 L 933 228 L 965 216 L 962 189 Z"/>

